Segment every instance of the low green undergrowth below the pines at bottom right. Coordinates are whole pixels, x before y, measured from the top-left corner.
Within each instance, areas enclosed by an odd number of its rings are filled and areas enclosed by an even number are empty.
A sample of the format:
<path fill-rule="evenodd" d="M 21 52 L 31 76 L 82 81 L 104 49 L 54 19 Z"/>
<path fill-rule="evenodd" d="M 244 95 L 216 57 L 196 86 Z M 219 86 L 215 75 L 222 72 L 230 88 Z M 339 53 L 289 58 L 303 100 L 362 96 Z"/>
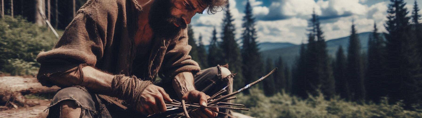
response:
<path fill-rule="evenodd" d="M 339 97 L 326 100 L 322 92 L 307 99 L 286 93 L 266 97 L 262 90 L 252 88 L 251 94 L 239 94 L 234 103 L 246 105 L 251 110 L 236 111 L 256 118 L 420 118 L 422 109 L 405 110 L 403 102 L 389 104 L 383 98 L 379 104 L 360 105 Z M 253 94 L 252 94 L 253 93 Z"/>

